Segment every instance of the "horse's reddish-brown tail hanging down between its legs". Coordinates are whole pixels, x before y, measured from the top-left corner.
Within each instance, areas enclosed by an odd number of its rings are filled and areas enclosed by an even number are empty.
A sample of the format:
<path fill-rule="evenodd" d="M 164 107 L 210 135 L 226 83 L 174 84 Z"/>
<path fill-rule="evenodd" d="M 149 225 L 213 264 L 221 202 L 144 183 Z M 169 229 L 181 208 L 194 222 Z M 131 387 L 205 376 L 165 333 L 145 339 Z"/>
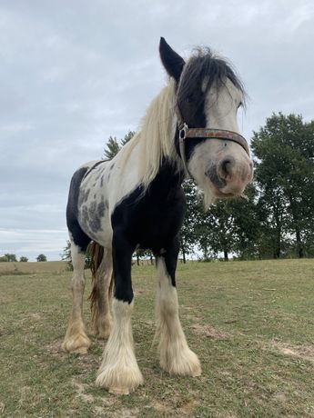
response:
<path fill-rule="evenodd" d="M 90 244 L 89 247 L 89 256 L 90 256 L 90 270 L 92 272 L 92 291 L 88 297 L 90 301 L 90 310 L 92 312 L 92 321 L 94 322 L 97 314 L 97 302 L 101 297 L 101 288 L 99 287 L 97 274 L 104 274 L 104 271 L 99 271 L 100 264 L 103 261 L 104 257 L 104 247 L 95 243 L 94 241 Z M 98 272 L 98 273 L 97 273 Z M 108 297 L 112 294 L 113 280 L 112 275 L 110 278 L 110 284 L 108 289 Z"/>

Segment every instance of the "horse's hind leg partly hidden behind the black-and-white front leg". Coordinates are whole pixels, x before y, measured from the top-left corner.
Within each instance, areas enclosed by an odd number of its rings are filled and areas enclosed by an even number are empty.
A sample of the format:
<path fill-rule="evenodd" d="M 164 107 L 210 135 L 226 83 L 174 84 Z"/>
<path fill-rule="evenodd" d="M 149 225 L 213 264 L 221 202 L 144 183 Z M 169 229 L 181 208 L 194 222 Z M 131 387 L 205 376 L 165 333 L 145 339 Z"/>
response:
<path fill-rule="evenodd" d="M 96 270 L 95 284 L 90 295 L 94 332 L 99 339 L 108 338 L 112 328 L 109 301 L 112 281 L 112 251 L 104 248 L 102 261 Z"/>

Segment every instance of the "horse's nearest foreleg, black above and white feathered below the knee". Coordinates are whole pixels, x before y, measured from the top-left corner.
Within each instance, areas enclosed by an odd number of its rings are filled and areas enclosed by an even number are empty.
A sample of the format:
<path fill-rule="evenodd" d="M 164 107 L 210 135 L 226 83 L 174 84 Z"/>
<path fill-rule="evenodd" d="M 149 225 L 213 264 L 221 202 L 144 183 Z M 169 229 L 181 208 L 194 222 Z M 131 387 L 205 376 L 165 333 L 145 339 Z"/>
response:
<path fill-rule="evenodd" d="M 131 259 L 134 248 L 121 234 L 113 237 L 113 267 L 115 294 L 112 303 L 113 328 L 106 343 L 96 385 L 110 393 L 128 394 L 143 383 L 137 359 L 131 325 L 133 290 Z"/>

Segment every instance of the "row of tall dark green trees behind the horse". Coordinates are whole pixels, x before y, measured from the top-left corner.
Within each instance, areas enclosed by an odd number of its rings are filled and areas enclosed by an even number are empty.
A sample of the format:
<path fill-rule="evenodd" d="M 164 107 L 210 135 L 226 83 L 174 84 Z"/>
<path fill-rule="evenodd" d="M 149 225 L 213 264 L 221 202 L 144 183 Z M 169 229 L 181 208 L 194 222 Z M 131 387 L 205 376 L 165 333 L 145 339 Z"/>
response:
<path fill-rule="evenodd" d="M 121 140 L 110 136 L 103 158 L 112 159 L 134 134 L 130 131 Z M 272 114 L 253 132 L 251 151 L 255 174 L 247 201 L 218 200 L 206 212 L 196 184 L 184 182 L 184 262 L 192 254 L 204 261 L 314 256 L 314 121 Z M 138 263 L 151 254 L 138 250 L 136 257 Z"/>

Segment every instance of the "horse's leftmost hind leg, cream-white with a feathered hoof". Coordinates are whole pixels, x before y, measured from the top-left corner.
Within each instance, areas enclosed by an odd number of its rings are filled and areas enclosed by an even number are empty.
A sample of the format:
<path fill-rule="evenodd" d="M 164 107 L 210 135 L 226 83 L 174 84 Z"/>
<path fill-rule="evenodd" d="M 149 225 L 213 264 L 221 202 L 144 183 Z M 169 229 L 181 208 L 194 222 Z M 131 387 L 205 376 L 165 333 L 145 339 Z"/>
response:
<path fill-rule="evenodd" d="M 85 248 L 86 250 L 86 248 Z M 71 241 L 71 255 L 73 264 L 72 294 L 73 307 L 67 325 L 65 340 L 62 349 L 68 353 L 86 354 L 90 340 L 86 335 L 83 321 L 83 294 L 85 289 L 85 252 Z"/>

